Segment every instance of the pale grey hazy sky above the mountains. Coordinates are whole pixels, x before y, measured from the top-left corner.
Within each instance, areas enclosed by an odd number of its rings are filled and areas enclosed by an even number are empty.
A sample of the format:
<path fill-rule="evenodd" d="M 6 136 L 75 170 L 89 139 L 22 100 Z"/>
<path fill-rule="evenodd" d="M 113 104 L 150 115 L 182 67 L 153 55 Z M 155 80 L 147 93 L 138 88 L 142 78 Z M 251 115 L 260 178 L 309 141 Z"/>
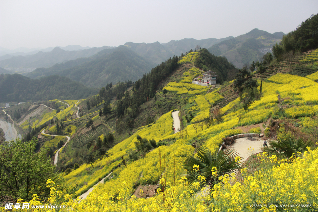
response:
<path fill-rule="evenodd" d="M 317 0 L 1 0 L 0 46 L 166 43 L 236 37 L 254 28 L 287 33 L 317 9 Z"/>

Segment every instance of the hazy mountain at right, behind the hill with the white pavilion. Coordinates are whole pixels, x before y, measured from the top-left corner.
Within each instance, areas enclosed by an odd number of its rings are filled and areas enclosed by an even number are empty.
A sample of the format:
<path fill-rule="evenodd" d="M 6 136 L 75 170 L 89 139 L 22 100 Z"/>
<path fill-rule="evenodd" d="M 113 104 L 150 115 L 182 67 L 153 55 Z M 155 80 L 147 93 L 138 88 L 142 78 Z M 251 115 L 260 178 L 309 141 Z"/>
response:
<path fill-rule="evenodd" d="M 279 43 L 283 35 L 283 32 L 271 34 L 253 29 L 244 35 L 214 44 L 208 51 L 215 56 L 224 56 L 236 67 L 242 68 L 245 64 L 260 60 L 267 51 L 271 52 L 273 44 Z"/>

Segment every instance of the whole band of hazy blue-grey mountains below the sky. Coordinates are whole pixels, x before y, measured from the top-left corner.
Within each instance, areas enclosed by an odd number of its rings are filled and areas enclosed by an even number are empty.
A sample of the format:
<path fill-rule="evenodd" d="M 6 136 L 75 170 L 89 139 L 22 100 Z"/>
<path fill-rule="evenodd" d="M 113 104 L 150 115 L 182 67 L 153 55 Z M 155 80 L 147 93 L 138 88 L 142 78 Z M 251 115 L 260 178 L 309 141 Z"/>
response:
<path fill-rule="evenodd" d="M 224 56 L 233 65 L 241 68 L 244 64 L 259 60 L 266 51 L 271 51 L 273 44 L 279 42 L 283 35 L 283 32 L 271 34 L 254 29 L 236 38 L 184 38 L 163 44 L 127 42 L 116 48 L 55 47 L 49 52 L 39 51 L 32 55 L 4 59 L 0 61 L 0 67 L 7 70 L 24 68 L 27 71 L 23 75 L 31 79 L 59 75 L 87 87 L 100 88 L 110 82 L 115 84 L 119 81 L 140 79 L 157 64 L 174 55 L 180 56 L 190 49 L 194 50 L 197 45 L 207 48 L 215 56 Z M 209 64 L 207 66 L 210 67 Z M 212 70 L 215 67 L 210 68 Z M 5 69 L 0 69 L 0 74 L 10 73 L 10 70 Z"/>

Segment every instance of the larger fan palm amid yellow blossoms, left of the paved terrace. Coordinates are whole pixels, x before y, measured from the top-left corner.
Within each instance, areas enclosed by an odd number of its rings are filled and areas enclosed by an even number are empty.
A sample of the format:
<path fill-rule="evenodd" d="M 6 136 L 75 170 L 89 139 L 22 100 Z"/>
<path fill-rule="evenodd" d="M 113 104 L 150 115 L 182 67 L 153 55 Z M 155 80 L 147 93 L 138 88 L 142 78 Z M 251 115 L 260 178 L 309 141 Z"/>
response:
<path fill-rule="evenodd" d="M 221 150 L 214 155 L 208 148 L 201 147 L 196 156 L 190 155 L 182 163 L 187 172 L 184 183 L 189 186 L 204 176 L 205 183 L 213 187 L 220 176 L 237 172 L 240 169 L 240 159 L 234 149 Z"/>

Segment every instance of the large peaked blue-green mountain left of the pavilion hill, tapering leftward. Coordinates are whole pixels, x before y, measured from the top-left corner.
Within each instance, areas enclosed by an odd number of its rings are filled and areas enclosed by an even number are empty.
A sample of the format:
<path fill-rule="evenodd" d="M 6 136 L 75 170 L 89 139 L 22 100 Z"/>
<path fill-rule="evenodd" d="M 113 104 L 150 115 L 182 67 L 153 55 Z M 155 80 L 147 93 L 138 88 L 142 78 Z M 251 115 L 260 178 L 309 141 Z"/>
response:
<path fill-rule="evenodd" d="M 110 82 L 117 83 L 130 79 L 136 81 L 155 66 L 155 63 L 141 57 L 127 46 L 119 46 L 100 51 L 91 58 L 78 58 L 51 68 L 38 68 L 26 76 L 40 78 L 56 74 L 78 81 L 87 87 L 103 87 Z"/>

